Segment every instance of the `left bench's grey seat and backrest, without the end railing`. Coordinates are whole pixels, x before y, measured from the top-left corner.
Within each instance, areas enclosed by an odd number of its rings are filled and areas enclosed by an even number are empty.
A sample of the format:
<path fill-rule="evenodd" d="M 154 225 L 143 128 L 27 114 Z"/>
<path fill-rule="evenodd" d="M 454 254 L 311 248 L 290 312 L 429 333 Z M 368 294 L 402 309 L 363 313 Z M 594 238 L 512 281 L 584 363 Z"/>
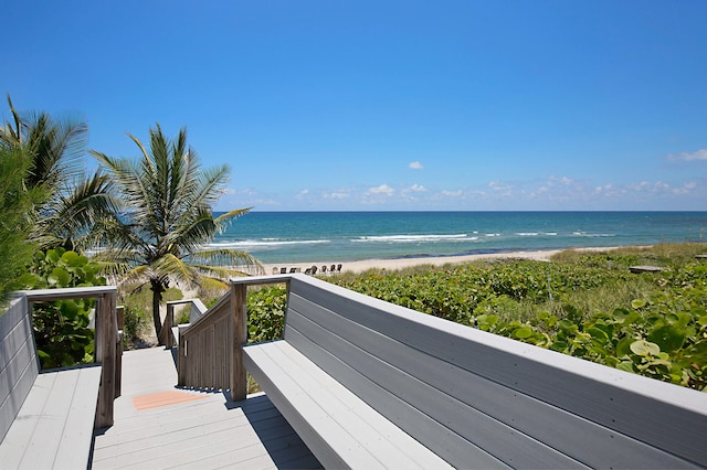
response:
<path fill-rule="evenodd" d="M 27 297 L 0 316 L 0 467 L 88 467 L 103 367 L 40 371 Z"/>

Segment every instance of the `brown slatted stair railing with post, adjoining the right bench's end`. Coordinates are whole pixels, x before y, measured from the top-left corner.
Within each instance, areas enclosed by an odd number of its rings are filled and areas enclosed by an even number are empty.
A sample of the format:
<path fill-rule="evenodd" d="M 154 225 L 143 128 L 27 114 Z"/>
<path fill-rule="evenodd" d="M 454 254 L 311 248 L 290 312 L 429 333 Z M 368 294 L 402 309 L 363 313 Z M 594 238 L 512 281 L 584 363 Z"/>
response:
<path fill-rule="evenodd" d="M 288 284 L 289 277 L 267 280 L 232 279 L 223 296 L 202 318 L 179 330 L 178 384 L 186 387 L 230 391 L 231 399 L 244 399 L 247 380 L 242 346 L 247 341 L 247 286 Z"/>

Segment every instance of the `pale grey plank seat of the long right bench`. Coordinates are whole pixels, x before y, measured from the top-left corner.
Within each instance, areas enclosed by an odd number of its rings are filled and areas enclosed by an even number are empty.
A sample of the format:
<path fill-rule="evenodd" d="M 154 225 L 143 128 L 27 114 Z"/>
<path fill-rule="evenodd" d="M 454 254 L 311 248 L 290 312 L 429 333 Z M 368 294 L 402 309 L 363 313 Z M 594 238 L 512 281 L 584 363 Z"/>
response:
<path fill-rule="evenodd" d="M 451 468 L 285 341 L 244 348 L 246 368 L 325 468 Z"/>

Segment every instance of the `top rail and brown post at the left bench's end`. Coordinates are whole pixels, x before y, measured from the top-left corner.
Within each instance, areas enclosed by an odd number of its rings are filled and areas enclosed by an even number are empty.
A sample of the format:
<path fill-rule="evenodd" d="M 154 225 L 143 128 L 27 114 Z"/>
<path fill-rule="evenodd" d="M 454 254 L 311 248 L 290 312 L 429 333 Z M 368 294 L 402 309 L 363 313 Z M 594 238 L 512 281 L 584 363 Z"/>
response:
<path fill-rule="evenodd" d="M 82 288 L 25 290 L 20 292 L 28 299 L 30 311 L 32 305 L 67 299 L 96 299 L 95 356 L 101 364 L 101 388 L 98 391 L 98 408 L 96 427 L 113 426 L 113 402 L 120 395 L 120 361 L 123 352 L 118 334 L 118 316 L 116 312 L 117 289 L 115 286 L 97 286 Z"/>

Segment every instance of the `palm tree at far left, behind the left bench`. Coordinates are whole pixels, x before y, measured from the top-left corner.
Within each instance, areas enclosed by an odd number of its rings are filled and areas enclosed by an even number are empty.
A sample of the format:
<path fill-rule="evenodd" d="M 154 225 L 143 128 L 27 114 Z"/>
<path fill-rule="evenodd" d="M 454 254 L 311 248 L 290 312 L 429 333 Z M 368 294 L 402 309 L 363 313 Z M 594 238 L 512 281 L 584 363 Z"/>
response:
<path fill-rule="evenodd" d="M 46 113 L 22 117 L 9 95 L 8 105 L 12 119 L 0 127 L 0 142 L 30 156 L 24 185 L 46 194 L 34 207 L 38 217 L 30 238 L 41 249 L 87 249 L 98 236 L 99 222 L 116 210 L 107 177 L 99 171 L 83 174 L 87 126 Z"/>

